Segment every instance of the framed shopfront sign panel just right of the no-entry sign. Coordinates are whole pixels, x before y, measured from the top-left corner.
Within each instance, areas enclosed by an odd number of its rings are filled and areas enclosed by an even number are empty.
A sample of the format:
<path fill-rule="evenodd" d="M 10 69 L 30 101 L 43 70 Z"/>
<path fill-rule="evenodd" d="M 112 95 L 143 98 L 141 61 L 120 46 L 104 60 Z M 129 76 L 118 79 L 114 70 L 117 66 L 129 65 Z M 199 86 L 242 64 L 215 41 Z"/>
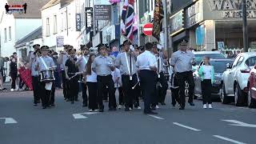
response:
<path fill-rule="evenodd" d="M 171 36 L 174 34 L 177 34 L 181 30 L 184 30 L 183 13 L 184 13 L 184 10 L 180 10 L 178 13 L 170 17 Z"/>

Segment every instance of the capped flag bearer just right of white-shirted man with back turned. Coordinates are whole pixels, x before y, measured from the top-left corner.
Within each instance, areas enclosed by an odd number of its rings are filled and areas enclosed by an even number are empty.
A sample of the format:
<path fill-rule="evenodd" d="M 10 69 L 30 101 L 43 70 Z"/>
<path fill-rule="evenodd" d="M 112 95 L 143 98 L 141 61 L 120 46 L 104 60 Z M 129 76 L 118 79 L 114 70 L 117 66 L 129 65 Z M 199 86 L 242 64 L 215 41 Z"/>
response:
<path fill-rule="evenodd" d="M 165 99 L 166 99 L 166 92 L 168 89 L 168 83 L 167 83 L 167 78 L 164 74 L 164 63 L 167 63 L 167 52 L 166 50 L 163 50 L 163 47 L 159 45 L 158 43 L 155 43 L 153 46 L 152 50 L 153 54 L 157 58 L 157 67 L 158 67 L 158 83 L 159 85 L 157 86 L 156 93 L 158 95 L 158 98 L 156 99 L 156 103 L 158 102 L 161 103 L 161 105 L 166 105 Z"/>

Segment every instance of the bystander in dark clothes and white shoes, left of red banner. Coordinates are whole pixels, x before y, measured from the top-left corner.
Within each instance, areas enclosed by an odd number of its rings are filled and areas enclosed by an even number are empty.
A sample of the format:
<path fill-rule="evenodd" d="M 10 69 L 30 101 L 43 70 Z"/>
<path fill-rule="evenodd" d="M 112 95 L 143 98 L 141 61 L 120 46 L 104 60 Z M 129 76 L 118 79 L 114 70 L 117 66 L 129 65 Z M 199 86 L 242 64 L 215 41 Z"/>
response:
<path fill-rule="evenodd" d="M 18 69 L 17 69 L 17 60 L 13 56 L 10 57 L 10 77 L 11 77 L 11 89 L 10 91 L 15 90 L 15 82 L 18 75 Z"/>

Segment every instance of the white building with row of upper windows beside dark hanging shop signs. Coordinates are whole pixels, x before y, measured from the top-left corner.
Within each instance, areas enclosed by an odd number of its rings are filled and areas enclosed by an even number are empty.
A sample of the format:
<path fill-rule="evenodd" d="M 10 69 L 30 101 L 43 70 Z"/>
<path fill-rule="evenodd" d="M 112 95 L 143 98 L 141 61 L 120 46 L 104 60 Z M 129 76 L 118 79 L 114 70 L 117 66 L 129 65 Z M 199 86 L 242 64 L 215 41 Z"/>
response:
<path fill-rule="evenodd" d="M 80 0 L 51 0 L 42 7 L 43 45 L 57 51 L 62 49 L 63 44 L 79 48 L 80 31 L 76 30 L 76 14 L 80 13 L 83 2 Z"/>

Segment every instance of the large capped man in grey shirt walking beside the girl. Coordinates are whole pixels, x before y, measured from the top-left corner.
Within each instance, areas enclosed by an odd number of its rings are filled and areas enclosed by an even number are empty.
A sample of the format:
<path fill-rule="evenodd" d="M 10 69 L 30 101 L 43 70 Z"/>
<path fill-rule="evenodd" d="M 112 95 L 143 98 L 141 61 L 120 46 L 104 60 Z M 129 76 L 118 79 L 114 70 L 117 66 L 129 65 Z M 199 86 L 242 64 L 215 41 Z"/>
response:
<path fill-rule="evenodd" d="M 170 59 L 170 66 L 174 66 L 174 71 L 177 74 L 178 86 L 180 90 L 181 107 L 179 110 L 185 109 L 185 82 L 189 83 L 189 104 L 194 106 L 194 77 L 192 72 L 192 65 L 195 65 L 194 54 L 187 50 L 188 44 L 183 41 L 178 45 L 179 50 L 172 54 Z"/>

